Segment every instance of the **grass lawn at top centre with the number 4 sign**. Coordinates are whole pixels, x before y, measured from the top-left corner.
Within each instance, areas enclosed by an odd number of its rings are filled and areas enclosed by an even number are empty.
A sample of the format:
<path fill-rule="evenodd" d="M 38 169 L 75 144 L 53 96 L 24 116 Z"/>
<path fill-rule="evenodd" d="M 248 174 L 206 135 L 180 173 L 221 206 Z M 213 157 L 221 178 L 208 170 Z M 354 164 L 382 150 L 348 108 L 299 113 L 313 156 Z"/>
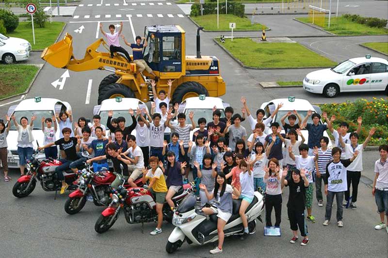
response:
<path fill-rule="evenodd" d="M 233 31 L 267 29 L 267 27 L 259 23 L 255 23 L 252 25 L 251 21 L 248 18 L 241 18 L 236 15 L 219 15 L 219 29 L 217 29 L 217 15 L 203 15 L 203 16 L 198 15 L 198 16 L 191 16 L 191 18 L 200 26 L 202 26 L 205 30 L 208 30 L 208 31 L 230 30 L 229 22 L 236 23 L 236 29 Z"/>

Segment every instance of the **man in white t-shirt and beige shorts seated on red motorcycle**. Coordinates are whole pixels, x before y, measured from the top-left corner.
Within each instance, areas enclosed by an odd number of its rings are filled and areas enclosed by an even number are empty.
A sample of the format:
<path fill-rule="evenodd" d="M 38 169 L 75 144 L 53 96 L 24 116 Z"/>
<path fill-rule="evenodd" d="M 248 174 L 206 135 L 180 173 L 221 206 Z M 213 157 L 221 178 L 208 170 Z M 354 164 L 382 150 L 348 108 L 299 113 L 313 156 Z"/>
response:
<path fill-rule="evenodd" d="M 128 183 L 132 187 L 137 185 L 134 183 L 136 179 L 142 174 L 144 169 L 144 156 L 142 149 L 136 145 L 136 137 L 129 135 L 127 137 L 128 150 L 124 153 L 121 153 L 123 157 L 128 159 L 131 164 L 128 165 L 128 171 L 131 172 Z"/>

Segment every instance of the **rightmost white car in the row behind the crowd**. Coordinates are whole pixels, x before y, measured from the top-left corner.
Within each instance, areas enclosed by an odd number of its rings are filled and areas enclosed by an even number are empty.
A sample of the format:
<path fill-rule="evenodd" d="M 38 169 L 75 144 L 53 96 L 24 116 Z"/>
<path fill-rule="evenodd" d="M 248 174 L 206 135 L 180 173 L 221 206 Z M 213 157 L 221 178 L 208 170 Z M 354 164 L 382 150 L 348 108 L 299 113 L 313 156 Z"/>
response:
<path fill-rule="evenodd" d="M 282 126 L 282 122 L 280 121 L 281 118 L 285 114 L 287 114 L 289 111 L 293 111 L 293 110 L 298 111 L 298 114 L 300 115 L 302 120 L 305 119 L 308 110 L 312 110 L 313 113 L 318 113 L 321 115 L 321 108 L 319 106 L 311 105 L 310 102 L 308 102 L 305 99 L 295 99 L 293 97 L 290 97 L 289 99 L 274 99 L 274 100 L 271 100 L 270 102 L 264 102 L 263 104 L 261 104 L 260 108 L 264 109 L 265 117 L 270 117 L 271 114 L 274 112 L 276 106 L 280 103 L 283 103 L 283 106 L 279 109 L 279 111 L 275 115 L 274 119 L 272 120 L 272 122 L 278 122 L 280 126 Z M 286 118 L 285 122 L 290 123 L 288 121 L 288 118 Z M 296 121 L 296 122 L 298 122 L 298 121 Z M 311 116 L 307 119 L 307 123 L 312 123 Z M 322 121 L 321 121 L 321 123 L 322 123 Z M 271 132 L 271 128 L 268 128 L 266 131 Z M 308 131 L 307 131 L 307 129 L 304 129 L 301 132 L 303 134 L 303 137 L 305 137 L 305 139 L 306 139 L 305 143 L 307 144 L 308 143 Z M 282 129 L 281 133 L 282 134 L 285 133 L 284 129 Z M 326 131 L 323 132 L 323 136 L 328 137 L 330 139 L 330 137 L 328 136 Z M 331 141 L 329 141 L 328 147 L 331 147 L 332 145 L 333 145 L 333 143 Z"/>

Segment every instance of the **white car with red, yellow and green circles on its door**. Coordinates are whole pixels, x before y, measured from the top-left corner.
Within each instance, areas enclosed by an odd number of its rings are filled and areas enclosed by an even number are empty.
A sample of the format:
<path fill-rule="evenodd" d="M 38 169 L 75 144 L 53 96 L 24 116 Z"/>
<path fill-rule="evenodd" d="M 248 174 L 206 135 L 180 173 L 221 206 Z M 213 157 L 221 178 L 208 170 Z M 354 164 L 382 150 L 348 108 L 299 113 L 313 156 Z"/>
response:
<path fill-rule="evenodd" d="M 387 91 L 388 61 L 367 55 L 341 62 L 334 68 L 309 73 L 303 89 L 334 98 L 339 92 Z"/>

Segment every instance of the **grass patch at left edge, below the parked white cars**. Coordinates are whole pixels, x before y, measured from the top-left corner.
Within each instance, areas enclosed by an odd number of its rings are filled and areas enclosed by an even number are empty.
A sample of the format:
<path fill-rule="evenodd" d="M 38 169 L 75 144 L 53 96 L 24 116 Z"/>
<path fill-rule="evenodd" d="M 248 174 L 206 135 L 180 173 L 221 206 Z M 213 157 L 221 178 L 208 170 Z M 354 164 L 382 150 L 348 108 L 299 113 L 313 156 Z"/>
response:
<path fill-rule="evenodd" d="M 0 99 L 22 93 L 39 67 L 27 64 L 0 64 Z"/>

